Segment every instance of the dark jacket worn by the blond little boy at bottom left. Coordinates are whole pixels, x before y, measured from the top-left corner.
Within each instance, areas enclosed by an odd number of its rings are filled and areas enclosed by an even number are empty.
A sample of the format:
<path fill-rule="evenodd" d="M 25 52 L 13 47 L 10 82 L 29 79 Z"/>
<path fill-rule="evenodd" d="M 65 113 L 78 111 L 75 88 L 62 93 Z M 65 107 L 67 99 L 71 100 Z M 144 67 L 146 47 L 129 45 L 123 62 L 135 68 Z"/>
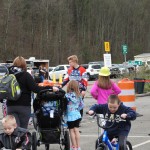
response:
<path fill-rule="evenodd" d="M 16 150 L 16 148 L 29 150 L 31 149 L 31 142 L 30 132 L 20 127 L 17 127 L 11 135 L 0 134 L 0 149 L 5 147 L 12 150 Z"/>

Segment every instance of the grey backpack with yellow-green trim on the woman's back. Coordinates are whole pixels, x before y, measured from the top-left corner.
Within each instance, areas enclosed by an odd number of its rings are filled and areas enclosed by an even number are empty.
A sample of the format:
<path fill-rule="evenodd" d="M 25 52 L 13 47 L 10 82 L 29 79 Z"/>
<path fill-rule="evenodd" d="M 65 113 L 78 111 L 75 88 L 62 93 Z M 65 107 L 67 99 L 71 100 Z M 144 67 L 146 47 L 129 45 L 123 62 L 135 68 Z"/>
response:
<path fill-rule="evenodd" d="M 14 74 L 6 74 L 0 79 L 0 100 L 16 101 L 21 96 L 21 89 Z"/>

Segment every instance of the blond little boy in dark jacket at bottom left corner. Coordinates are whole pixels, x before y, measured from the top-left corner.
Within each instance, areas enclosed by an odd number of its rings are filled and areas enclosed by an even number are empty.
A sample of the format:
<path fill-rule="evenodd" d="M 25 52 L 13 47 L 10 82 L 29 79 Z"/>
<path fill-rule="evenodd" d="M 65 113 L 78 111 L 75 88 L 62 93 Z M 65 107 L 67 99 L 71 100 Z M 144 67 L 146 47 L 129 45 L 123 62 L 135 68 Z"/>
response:
<path fill-rule="evenodd" d="M 31 134 L 27 129 L 17 127 L 14 116 L 5 116 L 2 119 L 2 125 L 4 133 L 0 134 L 0 149 L 31 149 Z"/>

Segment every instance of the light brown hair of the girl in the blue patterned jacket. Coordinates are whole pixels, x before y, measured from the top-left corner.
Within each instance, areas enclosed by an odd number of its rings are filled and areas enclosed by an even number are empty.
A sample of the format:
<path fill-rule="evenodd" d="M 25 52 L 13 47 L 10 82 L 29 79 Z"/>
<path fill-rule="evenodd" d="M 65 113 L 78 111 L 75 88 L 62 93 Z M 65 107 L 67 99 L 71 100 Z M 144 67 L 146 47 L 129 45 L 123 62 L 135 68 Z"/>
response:
<path fill-rule="evenodd" d="M 75 80 L 71 80 L 67 86 L 67 93 L 75 92 L 77 96 L 80 96 L 79 83 Z"/>

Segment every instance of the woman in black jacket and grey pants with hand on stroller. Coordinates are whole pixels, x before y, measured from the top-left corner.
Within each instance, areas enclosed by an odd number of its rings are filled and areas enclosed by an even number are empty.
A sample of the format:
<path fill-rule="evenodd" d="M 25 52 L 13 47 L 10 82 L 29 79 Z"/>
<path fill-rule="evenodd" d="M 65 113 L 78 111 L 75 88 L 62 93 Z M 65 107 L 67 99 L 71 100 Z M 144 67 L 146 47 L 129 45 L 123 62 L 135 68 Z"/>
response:
<path fill-rule="evenodd" d="M 17 125 L 22 128 L 28 127 L 31 114 L 31 92 L 38 93 L 40 90 L 49 88 L 58 91 L 57 87 L 39 87 L 33 77 L 27 72 L 26 61 L 23 57 L 18 56 L 13 61 L 13 66 L 17 67 L 20 73 L 15 76 L 21 88 L 21 96 L 17 101 L 7 100 L 7 114 L 13 114 L 16 118 Z"/>

